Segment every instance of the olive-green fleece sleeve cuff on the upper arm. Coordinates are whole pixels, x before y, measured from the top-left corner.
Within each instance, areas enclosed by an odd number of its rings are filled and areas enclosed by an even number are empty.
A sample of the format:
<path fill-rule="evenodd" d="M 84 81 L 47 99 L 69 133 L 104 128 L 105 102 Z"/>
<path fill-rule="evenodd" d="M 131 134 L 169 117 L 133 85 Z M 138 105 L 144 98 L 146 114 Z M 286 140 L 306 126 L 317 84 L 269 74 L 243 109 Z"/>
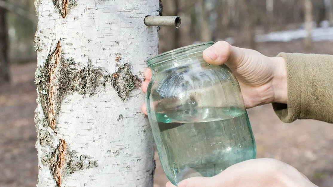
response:
<path fill-rule="evenodd" d="M 333 55 L 280 53 L 286 61 L 288 104 L 273 103 L 281 121 L 333 123 Z"/>

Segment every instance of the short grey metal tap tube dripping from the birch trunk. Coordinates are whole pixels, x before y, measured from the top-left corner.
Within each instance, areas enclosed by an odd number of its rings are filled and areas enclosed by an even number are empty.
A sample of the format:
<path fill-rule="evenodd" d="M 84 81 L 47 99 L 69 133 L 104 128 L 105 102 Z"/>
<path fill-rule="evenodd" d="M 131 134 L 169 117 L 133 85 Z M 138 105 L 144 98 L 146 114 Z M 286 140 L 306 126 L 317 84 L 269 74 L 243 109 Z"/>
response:
<path fill-rule="evenodd" d="M 145 25 L 147 26 L 180 26 L 179 16 L 146 16 Z"/>

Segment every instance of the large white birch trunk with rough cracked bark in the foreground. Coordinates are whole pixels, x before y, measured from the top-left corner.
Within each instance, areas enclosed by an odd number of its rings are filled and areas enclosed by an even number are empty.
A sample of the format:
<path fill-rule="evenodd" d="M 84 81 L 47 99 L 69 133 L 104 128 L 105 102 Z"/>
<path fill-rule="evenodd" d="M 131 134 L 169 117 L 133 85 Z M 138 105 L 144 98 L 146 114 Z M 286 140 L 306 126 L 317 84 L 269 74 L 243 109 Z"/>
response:
<path fill-rule="evenodd" d="M 38 186 L 152 186 L 138 89 L 159 0 L 36 0 Z"/>

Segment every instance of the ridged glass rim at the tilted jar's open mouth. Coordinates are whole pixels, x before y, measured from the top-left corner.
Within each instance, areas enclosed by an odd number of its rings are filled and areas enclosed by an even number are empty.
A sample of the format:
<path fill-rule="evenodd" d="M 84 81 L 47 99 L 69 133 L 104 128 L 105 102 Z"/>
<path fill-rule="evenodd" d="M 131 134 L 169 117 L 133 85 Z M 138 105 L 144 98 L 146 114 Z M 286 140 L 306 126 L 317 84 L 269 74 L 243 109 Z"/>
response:
<path fill-rule="evenodd" d="M 212 44 L 214 44 L 213 41 L 208 41 L 208 42 L 202 42 L 202 43 L 195 43 L 195 44 L 192 44 L 192 45 L 187 45 L 187 46 L 184 46 L 184 47 L 176 48 L 176 49 L 173 49 L 173 50 L 166 51 L 164 53 L 158 54 L 156 56 L 153 56 L 153 57 L 147 59 L 146 62 L 147 62 L 148 67 L 151 67 L 153 65 L 161 64 L 161 63 L 164 63 L 166 61 L 169 61 L 170 59 L 181 57 L 183 55 L 188 55 L 188 54 L 193 54 L 193 53 L 197 53 L 197 52 L 202 52 L 206 48 L 204 48 L 202 50 L 197 50 L 197 51 L 192 52 L 192 53 L 188 53 L 188 50 L 194 49 L 194 48 L 197 48 L 197 47 L 200 47 L 200 46 L 206 46 L 206 45 L 212 45 Z"/>

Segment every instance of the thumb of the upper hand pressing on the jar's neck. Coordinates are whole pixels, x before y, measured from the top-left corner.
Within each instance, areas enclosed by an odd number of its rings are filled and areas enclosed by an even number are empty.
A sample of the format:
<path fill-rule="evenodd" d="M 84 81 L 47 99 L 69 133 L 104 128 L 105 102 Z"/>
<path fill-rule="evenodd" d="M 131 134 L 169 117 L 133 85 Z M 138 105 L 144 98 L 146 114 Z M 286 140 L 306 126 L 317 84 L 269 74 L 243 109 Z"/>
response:
<path fill-rule="evenodd" d="M 202 57 L 209 64 L 221 65 L 229 59 L 230 53 L 231 45 L 226 41 L 218 41 L 205 49 Z"/>

